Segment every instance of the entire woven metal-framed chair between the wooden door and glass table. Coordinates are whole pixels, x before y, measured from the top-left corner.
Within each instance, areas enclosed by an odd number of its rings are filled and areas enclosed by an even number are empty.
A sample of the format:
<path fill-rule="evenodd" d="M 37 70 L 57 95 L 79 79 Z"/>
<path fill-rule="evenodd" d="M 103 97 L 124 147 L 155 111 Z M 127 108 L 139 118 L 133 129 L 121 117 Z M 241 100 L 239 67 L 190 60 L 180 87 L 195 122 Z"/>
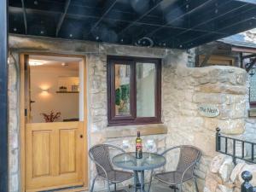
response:
<path fill-rule="evenodd" d="M 108 192 L 110 192 L 110 184 L 114 184 L 114 191 L 116 191 L 117 183 L 121 183 L 133 177 L 132 172 L 123 172 L 113 169 L 109 156 L 109 148 L 117 149 L 122 153 L 125 153 L 125 150 L 122 148 L 108 144 L 99 144 L 89 150 L 90 160 L 96 164 L 97 172 L 96 177 L 93 179 L 90 192 L 93 192 L 97 177 L 101 177 L 108 182 Z"/>

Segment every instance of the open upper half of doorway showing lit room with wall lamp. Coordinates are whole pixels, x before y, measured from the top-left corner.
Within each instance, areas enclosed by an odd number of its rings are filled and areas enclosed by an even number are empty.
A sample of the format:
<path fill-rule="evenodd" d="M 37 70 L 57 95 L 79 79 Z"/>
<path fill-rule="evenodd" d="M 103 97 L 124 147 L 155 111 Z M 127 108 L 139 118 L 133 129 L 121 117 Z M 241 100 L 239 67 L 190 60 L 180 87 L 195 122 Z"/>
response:
<path fill-rule="evenodd" d="M 47 120 L 79 121 L 83 119 L 83 108 L 79 101 L 81 58 L 45 55 L 29 55 L 30 65 L 30 121 L 43 123 Z M 47 116 L 52 112 L 53 118 Z"/>

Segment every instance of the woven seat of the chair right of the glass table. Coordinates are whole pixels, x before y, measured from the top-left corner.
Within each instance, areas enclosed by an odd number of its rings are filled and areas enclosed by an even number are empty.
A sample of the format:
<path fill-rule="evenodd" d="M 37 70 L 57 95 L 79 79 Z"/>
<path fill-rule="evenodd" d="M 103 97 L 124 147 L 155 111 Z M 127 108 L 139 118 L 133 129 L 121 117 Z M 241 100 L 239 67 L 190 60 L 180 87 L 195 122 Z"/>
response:
<path fill-rule="evenodd" d="M 161 172 L 154 174 L 154 178 L 158 179 L 160 182 L 167 183 L 170 185 L 177 185 L 182 183 L 182 176 L 182 172 Z M 192 178 L 193 176 L 191 176 L 191 174 L 185 174 L 183 177 L 183 182 L 186 182 Z"/>

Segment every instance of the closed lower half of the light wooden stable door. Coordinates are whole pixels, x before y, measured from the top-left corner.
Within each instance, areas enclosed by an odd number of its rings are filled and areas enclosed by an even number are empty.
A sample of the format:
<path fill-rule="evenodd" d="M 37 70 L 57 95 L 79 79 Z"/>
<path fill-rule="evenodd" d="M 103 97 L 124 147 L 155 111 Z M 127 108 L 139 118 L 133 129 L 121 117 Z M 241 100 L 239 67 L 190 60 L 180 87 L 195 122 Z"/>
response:
<path fill-rule="evenodd" d="M 84 185 L 83 122 L 26 124 L 26 191 Z"/>

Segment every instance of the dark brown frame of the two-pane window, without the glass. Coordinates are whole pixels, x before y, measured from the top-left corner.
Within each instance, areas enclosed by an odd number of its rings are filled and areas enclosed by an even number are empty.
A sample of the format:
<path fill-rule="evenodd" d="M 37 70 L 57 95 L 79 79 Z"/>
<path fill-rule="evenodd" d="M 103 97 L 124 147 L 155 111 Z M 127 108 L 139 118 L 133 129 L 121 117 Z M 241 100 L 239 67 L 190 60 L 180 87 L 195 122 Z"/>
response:
<path fill-rule="evenodd" d="M 128 56 L 108 56 L 107 80 L 108 80 L 108 125 L 146 125 L 159 124 L 161 122 L 161 59 L 141 58 Z M 137 93 L 136 93 L 136 63 L 148 62 L 155 64 L 155 91 L 154 91 L 154 117 L 137 117 Z M 131 70 L 130 79 L 130 108 L 131 116 L 115 115 L 115 79 L 114 64 L 129 65 Z"/>

